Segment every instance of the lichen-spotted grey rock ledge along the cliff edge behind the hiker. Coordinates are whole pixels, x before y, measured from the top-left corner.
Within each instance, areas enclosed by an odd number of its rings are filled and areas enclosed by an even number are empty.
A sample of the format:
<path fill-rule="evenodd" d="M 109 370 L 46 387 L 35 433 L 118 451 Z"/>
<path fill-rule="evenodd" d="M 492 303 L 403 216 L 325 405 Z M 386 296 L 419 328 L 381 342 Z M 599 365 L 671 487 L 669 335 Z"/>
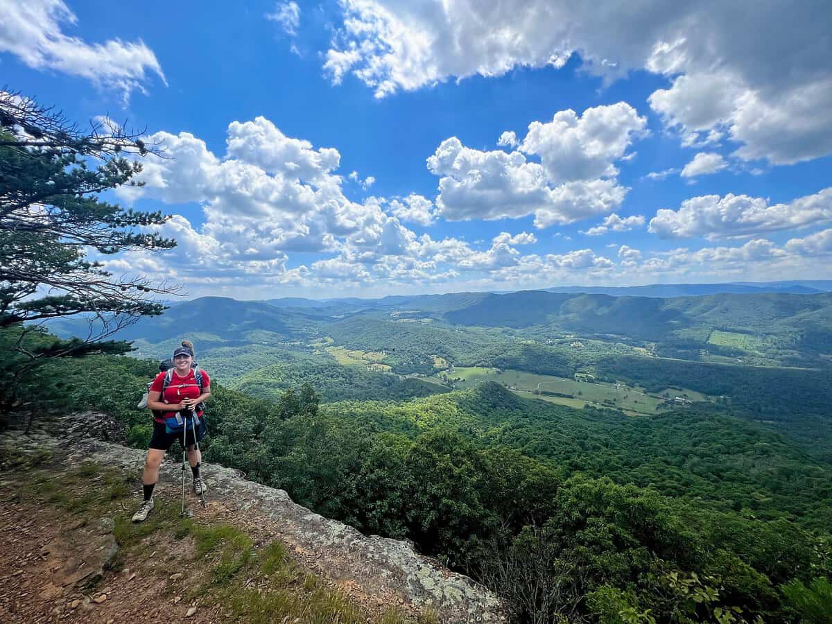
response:
<path fill-rule="evenodd" d="M 89 423 L 99 418 L 108 419 L 103 414 L 84 414 L 53 421 L 28 435 L 7 431 L 0 434 L 0 454 L 45 449 L 67 467 L 92 460 L 135 475 L 138 491 L 145 452 L 90 438 Z M 283 490 L 245 480 L 239 471 L 207 463 L 203 471 L 210 484 L 208 508 L 200 510 L 195 498 L 189 500 L 198 522 L 220 511 L 226 517 L 245 517 L 246 524 L 283 542 L 312 572 L 381 606 L 399 605 L 412 613 L 427 610 L 435 613 L 438 622 L 507 622 L 503 602 L 493 592 L 419 555 L 408 542 L 366 537 L 301 507 Z M 176 489 L 178 496 L 180 479 L 179 463 L 162 464 L 161 490 Z"/>

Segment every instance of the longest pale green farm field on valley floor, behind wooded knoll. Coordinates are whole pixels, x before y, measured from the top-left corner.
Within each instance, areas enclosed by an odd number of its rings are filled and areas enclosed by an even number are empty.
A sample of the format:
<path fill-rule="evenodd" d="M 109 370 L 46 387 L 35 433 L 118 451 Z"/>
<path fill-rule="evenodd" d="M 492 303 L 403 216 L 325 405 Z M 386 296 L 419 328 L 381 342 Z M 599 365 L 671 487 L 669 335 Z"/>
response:
<path fill-rule="evenodd" d="M 585 382 L 526 373 L 520 370 L 498 370 L 483 367 L 454 368 L 443 372 L 447 375 L 448 383 L 457 388 L 470 388 L 484 381 L 496 381 L 522 394 L 531 394 L 535 399 L 542 399 L 550 403 L 568 405 L 573 408 L 583 408 L 585 404 L 598 407 L 622 408 L 627 412 L 638 414 L 656 414 L 665 399 L 655 394 L 645 394 L 642 389 L 632 388 L 624 384 L 608 384 L 606 382 Z M 459 379 L 456 381 L 456 379 Z M 681 389 L 667 389 L 669 398 L 686 393 L 691 400 L 707 400 L 704 394 Z M 539 394 L 536 394 L 539 393 Z M 552 396 L 557 393 L 567 396 Z M 695 396 L 696 395 L 696 396 Z"/>

